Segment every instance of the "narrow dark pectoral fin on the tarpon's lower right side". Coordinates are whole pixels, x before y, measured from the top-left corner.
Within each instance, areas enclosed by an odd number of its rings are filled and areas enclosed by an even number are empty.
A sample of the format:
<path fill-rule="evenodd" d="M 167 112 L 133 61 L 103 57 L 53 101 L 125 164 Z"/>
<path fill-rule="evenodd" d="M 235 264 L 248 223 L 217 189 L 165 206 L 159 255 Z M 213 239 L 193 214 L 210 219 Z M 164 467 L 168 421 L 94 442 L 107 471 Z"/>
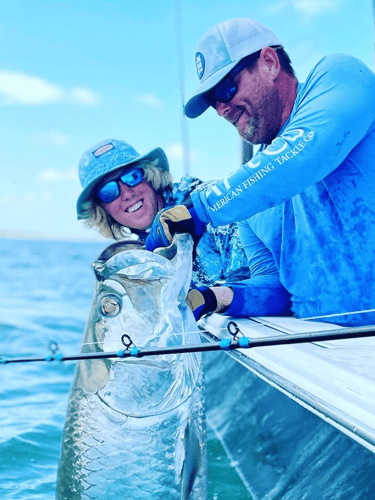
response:
<path fill-rule="evenodd" d="M 201 447 L 194 425 L 186 425 L 183 439 L 185 458 L 181 471 L 181 500 L 188 500 L 201 462 Z"/>

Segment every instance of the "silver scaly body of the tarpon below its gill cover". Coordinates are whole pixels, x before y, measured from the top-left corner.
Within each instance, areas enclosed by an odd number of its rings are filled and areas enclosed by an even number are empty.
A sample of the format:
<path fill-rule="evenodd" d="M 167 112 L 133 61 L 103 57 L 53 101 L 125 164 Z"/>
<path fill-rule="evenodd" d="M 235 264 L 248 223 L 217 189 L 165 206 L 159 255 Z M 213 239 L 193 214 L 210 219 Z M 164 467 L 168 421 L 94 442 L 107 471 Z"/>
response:
<path fill-rule="evenodd" d="M 122 416 L 121 421 L 117 412 L 108 407 L 103 415 L 103 404 L 96 394 L 82 397 L 78 392 L 68 407 L 63 443 L 68 451 L 60 462 L 60 470 L 68 468 L 72 475 L 61 477 L 57 498 L 111 499 L 126 495 L 124 498 L 134 500 L 181 499 L 175 468 L 176 464 L 182 465 L 183 457 L 176 457 L 180 452 L 176 443 L 180 441 L 183 446 L 181 429 L 184 429 L 187 411 L 192 409 L 200 415 L 194 425 L 199 434 L 204 434 L 201 392 L 198 384 L 191 396 L 195 400 L 194 408 L 189 399 L 170 415 L 139 419 Z M 104 417 L 105 430 L 100 429 Z M 82 427 L 77 427 L 77 422 L 82 422 Z M 203 482 L 204 478 L 198 480 Z M 190 498 L 199 500 L 204 496 L 192 494 Z"/>

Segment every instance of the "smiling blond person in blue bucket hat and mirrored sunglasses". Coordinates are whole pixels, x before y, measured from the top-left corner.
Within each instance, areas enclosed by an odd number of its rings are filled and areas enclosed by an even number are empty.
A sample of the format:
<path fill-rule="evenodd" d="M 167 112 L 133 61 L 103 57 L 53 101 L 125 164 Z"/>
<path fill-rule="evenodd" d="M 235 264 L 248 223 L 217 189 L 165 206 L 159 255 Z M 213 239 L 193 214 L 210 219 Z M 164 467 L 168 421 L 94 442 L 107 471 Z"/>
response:
<path fill-rule="evenodd" d="M 83 154 L 79 178 L 83 191 L 77 202 L 78 219 L 115 240 L 144 241 L 159 210 L 183 203 L 203 186 L 193 177 L 173 183 L 162 149 L 141 156 L 130 144 L 116 139 L 102 141 Z M 206 289 L 224 280 L 248 277 L 237 226 L 214 229 L 208 225 L 196 246 L 192 286 Z"/>

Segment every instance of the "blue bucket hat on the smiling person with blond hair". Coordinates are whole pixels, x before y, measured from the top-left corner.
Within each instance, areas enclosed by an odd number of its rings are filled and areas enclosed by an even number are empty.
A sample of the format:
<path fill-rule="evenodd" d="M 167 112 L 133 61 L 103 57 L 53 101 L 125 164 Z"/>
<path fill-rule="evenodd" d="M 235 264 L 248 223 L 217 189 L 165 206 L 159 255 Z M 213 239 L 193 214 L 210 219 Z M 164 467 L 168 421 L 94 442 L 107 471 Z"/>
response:
<path fill-rule="evenodd" d="M 77 201 L 78 219 L 84 219 L 83 203 L 92 198 L 93 189 L 104 175 L 140 160 L 158 160 L 157 167 L 169 171 L 167 157 L 161 148 L 141 156 L 128 142 L 106 139 L 85 151 L 78 164 L 79 180 L 83 187 Z"/>

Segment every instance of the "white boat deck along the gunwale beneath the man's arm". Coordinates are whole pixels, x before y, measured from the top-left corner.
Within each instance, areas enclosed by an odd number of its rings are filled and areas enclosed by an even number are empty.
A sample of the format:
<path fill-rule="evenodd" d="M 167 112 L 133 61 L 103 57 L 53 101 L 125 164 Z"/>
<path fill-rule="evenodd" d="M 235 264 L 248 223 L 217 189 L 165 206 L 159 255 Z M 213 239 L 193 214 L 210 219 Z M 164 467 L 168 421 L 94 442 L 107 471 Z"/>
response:
<path fill-rule="evenodd" d="M 290 317 L 229 318 L 201 322 L 212 339 L 230 338 L 235 321 L 243 336 L 269 338 L 337 329 Z M 230 355 L 288 397 L 375 452 L 375 337 L 236 349 Z"/>

